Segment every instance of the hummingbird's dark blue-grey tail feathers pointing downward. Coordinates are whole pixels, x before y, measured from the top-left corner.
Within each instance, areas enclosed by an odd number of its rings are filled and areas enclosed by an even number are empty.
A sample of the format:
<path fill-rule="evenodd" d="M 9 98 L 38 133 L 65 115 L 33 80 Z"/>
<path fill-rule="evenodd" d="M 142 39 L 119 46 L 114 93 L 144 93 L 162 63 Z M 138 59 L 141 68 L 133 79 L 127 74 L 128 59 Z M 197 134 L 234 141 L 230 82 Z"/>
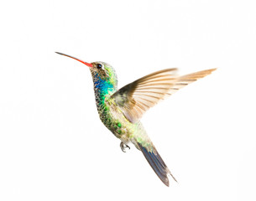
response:
<path fill-rule="evenodd" d="M 141 152 L 143 152 L 144 157 L 146 157 L 151 168 L 153 168 L 154 173 L 157 174 L 157 176 L 161 179 L 163 183 L 165 183 L 166 186 L 169 187 L 169 179 L 167 177 L 168 175 L 170 175 L 175 180 L 175 182 L 177 182 L 177 180 L 170 173 L 170 170 L 167 168 L 167 166 L 165 165 L 165 162 L 160 157 L 159 153 L 156 151 L 155 148 L 153 152 L 153 151 L 148 151 L 140 143 L 138 143 L 138 147 L 140 148 Z"/>

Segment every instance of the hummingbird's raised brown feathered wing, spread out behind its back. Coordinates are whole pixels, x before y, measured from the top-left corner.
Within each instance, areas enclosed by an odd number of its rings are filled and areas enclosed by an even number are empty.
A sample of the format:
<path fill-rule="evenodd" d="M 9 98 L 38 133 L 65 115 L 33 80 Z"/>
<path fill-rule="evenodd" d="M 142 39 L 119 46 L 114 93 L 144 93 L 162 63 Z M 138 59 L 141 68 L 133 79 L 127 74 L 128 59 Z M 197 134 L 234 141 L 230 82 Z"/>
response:
<path fill-rule="evenodd" d="M 202 70 L 193 74 L 177 76 L 176 69 L 160 70 L 146 75 L 132 83 L 123 86 L 112 95 L 128 121 L 136 122 L 167 95 L 200 78 L 212 73 L 213 70 Z"/>

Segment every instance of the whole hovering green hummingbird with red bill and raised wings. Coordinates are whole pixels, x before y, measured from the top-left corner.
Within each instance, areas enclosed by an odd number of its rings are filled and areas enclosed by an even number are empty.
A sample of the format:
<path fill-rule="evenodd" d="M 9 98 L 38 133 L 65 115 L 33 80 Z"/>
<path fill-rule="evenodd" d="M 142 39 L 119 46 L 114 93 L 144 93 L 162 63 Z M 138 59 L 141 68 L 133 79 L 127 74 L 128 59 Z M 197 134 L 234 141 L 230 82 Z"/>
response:
<path fill-rule="evenodd" d="M 149 108 L 166 96 L 210 75 L 216 69 L 182 76 L 176 74 L 176 68 L 159 70 L 118 90 L 118 77 L 110 64 L 102 61 L 87 63 L 68 54 L 55 53 L 76 59 L 89 67 L 99 117 L 107 129 L 121 140 L 122 151 L 126 152 L 130 149 L 128 143 L 132 142 L 139 151 L 143 152 L 154 173 L 166 186 L 169 186 L 170 176 L 177 182 L 139 120 Z"/>

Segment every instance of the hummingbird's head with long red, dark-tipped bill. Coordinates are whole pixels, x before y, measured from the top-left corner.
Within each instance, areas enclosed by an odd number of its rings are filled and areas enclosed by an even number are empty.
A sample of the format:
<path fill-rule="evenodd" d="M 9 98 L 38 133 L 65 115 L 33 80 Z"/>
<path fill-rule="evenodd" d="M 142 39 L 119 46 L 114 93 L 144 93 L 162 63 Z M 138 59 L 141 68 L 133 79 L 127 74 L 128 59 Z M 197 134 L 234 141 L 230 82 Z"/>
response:
<path fill-rule="evenodd" d="M 70 57 L 72 59 L 76 59 L 75 57 L 72 57 L 67 54 L 62 54 L 59 52 L 56 52 L 56 53 Z M 82 61 L 81 59 L 76 59 L 76 60 L 80 61 L 83 64 L 86 64 L 89 67 L 89 69 L 91 71 L 91 76 L 92 76 L 92 79 L 94 82 L 101 80 L 101 81 L 105 82 L 107 85 L 112 85 L 113 88 L 117 87 L 118 78 L 117 78 L 115 70 L 112 68 L 112 66 L 110 64 L 107 64 L 102 61 L 87 63 L 85 61 Z"/>

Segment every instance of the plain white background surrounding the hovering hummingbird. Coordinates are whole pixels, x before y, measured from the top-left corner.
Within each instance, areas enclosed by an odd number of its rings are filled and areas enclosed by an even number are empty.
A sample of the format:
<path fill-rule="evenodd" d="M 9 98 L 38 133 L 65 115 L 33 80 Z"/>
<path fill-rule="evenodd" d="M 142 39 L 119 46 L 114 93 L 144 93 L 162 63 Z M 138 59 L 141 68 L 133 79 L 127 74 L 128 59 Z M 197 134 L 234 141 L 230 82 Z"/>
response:
<path fill-rule="evenodd" d="M 256 200 L 254 1 L 5 1 L 0 200 Z M 179 183 L 166 188 L 102 125 L 87 67 L 119 86 L 218 68 L 142 119 Z"/>

